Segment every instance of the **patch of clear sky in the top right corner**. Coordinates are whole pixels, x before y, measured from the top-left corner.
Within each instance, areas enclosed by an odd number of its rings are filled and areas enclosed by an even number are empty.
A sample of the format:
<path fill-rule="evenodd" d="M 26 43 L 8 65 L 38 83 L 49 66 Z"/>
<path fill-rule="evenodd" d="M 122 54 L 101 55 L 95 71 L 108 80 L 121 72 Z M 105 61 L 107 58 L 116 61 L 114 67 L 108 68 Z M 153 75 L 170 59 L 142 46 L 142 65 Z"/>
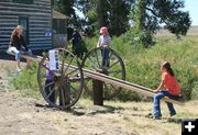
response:
<path fill-rule="evenodd" d="M 189 11 L 191 25 L 198 25 L 198 0 L 185 0 L 185 11 Z"/>

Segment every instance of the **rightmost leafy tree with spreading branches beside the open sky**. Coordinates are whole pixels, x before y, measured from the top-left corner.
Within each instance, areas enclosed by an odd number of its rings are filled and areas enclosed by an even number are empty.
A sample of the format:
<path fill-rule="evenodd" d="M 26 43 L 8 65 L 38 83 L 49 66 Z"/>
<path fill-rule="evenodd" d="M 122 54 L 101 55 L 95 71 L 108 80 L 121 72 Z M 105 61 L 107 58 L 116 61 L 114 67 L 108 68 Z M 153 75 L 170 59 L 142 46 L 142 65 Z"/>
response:
<path fill-rule="evenodd" d="M 152 36 L 161 24 L 177 37 L 186 35 L 191 21 L 182 8 L 184 0 L 136 0 L 131 11 L 133 32 L 145 37 L 140 37 L 145 46 L 153 44 Z"/>

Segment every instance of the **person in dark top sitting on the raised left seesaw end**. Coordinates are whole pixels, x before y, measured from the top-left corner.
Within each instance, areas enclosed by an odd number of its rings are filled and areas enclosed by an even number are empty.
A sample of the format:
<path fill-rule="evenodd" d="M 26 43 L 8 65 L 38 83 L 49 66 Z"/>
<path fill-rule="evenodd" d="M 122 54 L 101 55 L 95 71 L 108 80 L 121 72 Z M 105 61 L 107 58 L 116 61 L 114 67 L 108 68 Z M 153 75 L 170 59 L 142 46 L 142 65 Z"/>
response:
<path fill-rule="evenodd" d="M 32 55 L 32 52 L 26 46 L 22 34 L 23 34 L 23 26 L 18 25 L 11 34 L 11 40 L 10 40 L 10 45 L 9 45 L 9 52 L 15 54 L 15 60 L 18 63 L 16 64 L 18 71 L 21 71 L 21 65 L 20 65 L 21 55 L 22 54 Z M 31 69 L 30 59 L 26 59 L 26 68 Z"/>

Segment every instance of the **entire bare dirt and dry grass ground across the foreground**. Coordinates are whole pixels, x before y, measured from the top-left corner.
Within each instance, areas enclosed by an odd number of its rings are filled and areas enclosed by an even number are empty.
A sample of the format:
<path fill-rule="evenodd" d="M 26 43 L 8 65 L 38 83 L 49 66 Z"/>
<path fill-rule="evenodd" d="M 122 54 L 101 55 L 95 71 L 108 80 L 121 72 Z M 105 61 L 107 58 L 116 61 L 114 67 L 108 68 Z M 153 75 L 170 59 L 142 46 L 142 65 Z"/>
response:
<path fill-rule="evenodd" d="M 70 111 L 46 108 L 42 98 L 25 98 L 10 88 L 7 70 L 14 70 L 14 64 L 0 60 L 0 135 L 180 135 L 180 120 L 198 117 L 198 101 L 175 105 L 178 114 L 174 121 L 167 119 L 165 103 L 160 121 L 146 117 L 151 102 L 108 101 L 96 106 L 80 99 Z"/>

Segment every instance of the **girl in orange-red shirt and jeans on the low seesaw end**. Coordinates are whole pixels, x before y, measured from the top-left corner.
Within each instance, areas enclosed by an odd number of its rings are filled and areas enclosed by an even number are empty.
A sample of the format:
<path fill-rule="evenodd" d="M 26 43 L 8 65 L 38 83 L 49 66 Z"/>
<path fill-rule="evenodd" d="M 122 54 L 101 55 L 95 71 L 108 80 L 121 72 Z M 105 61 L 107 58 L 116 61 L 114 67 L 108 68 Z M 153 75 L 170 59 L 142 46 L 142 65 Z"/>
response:
<path fill-rule="evenodd" d="M 168 97 L 173 99 L 174 97 L 178 97 L 180 94 L 180 88 L 176 80 L 175 74 L 170 67 L 170 64 L 164 61 L 161 65 L 162 70 L 162 80 L 158 88 L 154 91 L 156 94 L 154 95 L 154 119 L 160 120 L 162 116 L 160 100 L 164 97 Z M 167 106 L 170 113 L 170 116 L 176 114 L 173 103 L 167 102 Z"/>

